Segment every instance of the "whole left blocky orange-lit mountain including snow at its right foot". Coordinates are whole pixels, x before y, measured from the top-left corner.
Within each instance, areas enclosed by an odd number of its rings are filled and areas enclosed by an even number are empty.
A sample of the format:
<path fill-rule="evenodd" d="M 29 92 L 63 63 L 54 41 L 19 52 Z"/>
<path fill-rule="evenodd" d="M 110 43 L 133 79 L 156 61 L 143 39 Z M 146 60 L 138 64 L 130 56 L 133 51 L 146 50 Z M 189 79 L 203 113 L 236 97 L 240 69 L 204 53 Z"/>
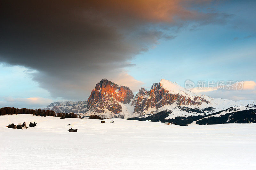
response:
<path fill-rule="evenodd" d="M 85 116 L 99 115 L 106 118 L 128 118 L 133 111 L 130 106 L 132 90 L 102 79 L 88 98 Z"/>

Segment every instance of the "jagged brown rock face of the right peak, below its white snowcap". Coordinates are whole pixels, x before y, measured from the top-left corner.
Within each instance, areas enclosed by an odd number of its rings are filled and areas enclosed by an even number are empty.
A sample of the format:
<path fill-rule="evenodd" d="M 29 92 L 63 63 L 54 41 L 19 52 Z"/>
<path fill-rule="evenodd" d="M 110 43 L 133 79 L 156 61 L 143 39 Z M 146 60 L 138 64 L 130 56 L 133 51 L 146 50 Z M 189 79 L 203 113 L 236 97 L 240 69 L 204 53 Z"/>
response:
<path fill-rule="evenodd" d="M 189 96 L 184 94 L 172 94 L 169 89 L 165 89 L 163 84 L 154 83 L 150 91 L 141 88 L 132 101 L 134 112 L 141 113 L 149 108 L 159 109 L 167 104 L 177 105 L 200 105 L 202 102 L 209 103 L 202 97 Z"/>

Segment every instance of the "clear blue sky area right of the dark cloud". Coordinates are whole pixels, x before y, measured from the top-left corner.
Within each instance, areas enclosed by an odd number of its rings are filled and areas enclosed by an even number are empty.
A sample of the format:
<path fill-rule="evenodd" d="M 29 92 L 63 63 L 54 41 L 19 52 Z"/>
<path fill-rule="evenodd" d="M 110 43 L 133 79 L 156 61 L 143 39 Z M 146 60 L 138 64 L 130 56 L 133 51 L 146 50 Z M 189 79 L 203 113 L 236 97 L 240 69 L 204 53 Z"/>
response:
<path fill-rule="evenodd" d="M 217 9 L 234 15 L 227 24 L 204 25 L 180 31 L 175 39 L 160 40 L 132 60 L 136 66 L 129 74 L 148 88 L 161 78 L 180 85 L 186 79 L 256 81 L 255 6 L 255 2 L 222 3 Z"/>

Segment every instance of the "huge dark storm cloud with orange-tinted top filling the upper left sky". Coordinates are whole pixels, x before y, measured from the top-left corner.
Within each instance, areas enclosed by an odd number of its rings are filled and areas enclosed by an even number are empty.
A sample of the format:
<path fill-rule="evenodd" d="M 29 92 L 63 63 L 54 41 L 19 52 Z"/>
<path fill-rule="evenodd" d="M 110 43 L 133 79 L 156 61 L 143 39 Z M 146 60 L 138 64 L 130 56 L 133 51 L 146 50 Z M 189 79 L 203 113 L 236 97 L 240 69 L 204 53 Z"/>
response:
<path fill-rule="evenodd" d="M 38 70 L 33 79 L 56 97 L 87 99 L 102 78 L 122 84 L 126 76 L 139 86 L 124 70 L 136 54 L 175 38 L 170 30 L 184 21 L 222 24 L 229 17 L 189 11 L 180 2 L 3 0 L 0 61 Z"/>

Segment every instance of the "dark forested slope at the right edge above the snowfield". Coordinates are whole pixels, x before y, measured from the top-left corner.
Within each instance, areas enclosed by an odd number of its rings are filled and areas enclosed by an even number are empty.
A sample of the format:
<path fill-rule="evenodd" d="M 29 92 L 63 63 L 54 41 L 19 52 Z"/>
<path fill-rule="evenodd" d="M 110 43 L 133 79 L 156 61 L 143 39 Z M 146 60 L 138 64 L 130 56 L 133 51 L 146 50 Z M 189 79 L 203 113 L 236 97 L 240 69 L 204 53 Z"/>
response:
<path fill-rule="evenodd" d="M 256 123 L 256 109 L 241 110 L 227 113 L 219 117 L 212 116 L 198 120 L 196 124 L 228 124 L 228 123 Z"/>

